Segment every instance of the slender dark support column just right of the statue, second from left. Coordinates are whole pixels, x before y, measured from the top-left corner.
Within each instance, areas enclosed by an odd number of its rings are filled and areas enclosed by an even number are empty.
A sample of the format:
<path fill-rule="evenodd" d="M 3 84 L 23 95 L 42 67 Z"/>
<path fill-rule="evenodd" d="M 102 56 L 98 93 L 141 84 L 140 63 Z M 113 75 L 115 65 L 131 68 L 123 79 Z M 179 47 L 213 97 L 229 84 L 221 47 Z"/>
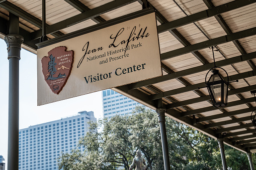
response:
<path fill-rule="evenodd" d="M 169 160 L 168 144 L 167 144 L 167 136 L 166 136 L 166 128 L 165 128 L 165 109 L 159 108 L 159 109 L 156 109 L 155 111 L 158 115 L 158 122 L 160 126 L 164 169 L 169 170 L 170 160 Z"/>

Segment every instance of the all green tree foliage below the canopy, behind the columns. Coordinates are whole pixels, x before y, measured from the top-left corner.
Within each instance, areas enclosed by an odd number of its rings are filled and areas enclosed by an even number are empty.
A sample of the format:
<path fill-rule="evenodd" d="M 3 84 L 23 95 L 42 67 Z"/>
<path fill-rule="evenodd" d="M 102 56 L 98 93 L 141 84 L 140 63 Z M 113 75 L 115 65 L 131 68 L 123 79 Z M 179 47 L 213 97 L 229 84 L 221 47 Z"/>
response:
<path fill-rule="evenodd" d="M 171 169 L 222 169 L 215 139 L 168 117 L 165 124 Z M 84 146 L 84 152 L 76 149 L 62 154 L 59 169 L 129 169 L 137 149 L 150 169 L 163 169 L 157 114 L 145 107 L 136 107 L 131 116 L 90 122 L 89 132 L 78 146 Z M 225 154 L 229 169 L 249 169 L 245 153 L 225 146 Z M 255 155 L 253 160 L 256 162 Z"/>

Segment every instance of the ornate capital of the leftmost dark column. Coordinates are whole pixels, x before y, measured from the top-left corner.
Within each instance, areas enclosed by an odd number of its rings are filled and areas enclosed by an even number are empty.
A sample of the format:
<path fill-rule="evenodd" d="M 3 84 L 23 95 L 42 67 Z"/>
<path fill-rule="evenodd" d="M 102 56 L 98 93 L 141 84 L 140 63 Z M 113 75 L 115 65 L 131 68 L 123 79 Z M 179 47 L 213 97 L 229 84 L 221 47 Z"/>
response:
<path fill-rule="evenodd" d="M 23 41 L 24 38 L 18 34 L 9 34 L 5 36 L 5 42 L 8 50 L 8 60 L 13 57 L 18 58 L 19 60 L 21 59 L 20 51 Z"/>

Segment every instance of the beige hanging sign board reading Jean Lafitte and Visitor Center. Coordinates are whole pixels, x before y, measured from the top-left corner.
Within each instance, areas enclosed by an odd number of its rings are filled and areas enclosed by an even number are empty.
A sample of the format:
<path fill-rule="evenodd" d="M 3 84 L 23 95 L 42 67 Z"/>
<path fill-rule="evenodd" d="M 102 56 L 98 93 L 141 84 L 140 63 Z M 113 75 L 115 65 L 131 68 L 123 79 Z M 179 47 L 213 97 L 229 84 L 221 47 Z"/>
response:
<path fill-rule="evenodd" d="M 48 60 L 56 70 L 69 69 L 62 66 L 70 62 L 69 56 L 49 54 L 57 47 L 70 51 L 70 56 L 71 52 L 73 54 L 72 70 L 58 94 L 53 93 L 54 87 L 50 89 L 50 86 L 56 87 L 62 79 L 48 79 L 47 83 L 46 76 L 53 72 L 47 66 L 44 68 L 49 73 L 42 71 L 44 57 L 51 57 Z M 38 105 L 161 76 L 155 14 L 40 48 L 37 50 L 37 65 Z"/>

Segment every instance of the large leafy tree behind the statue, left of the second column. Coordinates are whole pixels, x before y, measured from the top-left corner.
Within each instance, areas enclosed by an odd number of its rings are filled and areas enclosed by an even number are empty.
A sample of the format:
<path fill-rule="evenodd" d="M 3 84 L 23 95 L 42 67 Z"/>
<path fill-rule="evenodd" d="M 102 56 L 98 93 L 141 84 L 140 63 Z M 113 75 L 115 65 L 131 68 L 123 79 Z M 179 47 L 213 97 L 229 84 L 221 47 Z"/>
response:
<path fill-rule="evenodd" d="M 85 148 L 84 152 L 73 150 L 70 154 L 63 154 L 58 162 L 59 168 L 82 169 L 80 164 L 83 163 L 86 169 L 129 169 L 139 148 L 149 167 L 163 167 L 156 113 L 144 107 L 138 107 L 135 112 L 138 114 L 90 122 L 89 132 L 79 141 L 79 146 Z M 98 164 L 101 167 L 97 167 Z"/>

